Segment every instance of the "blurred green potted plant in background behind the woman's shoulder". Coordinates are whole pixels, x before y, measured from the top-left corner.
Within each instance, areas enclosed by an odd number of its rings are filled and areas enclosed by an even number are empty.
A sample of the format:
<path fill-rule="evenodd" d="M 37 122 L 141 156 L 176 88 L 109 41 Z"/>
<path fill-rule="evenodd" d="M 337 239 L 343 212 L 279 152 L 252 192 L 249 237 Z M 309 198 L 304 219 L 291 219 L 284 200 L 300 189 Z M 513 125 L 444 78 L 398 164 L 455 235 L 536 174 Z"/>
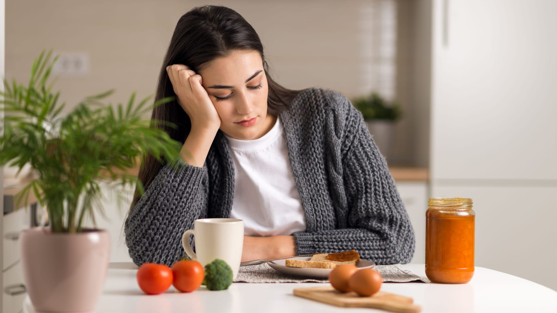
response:
<path fill-rule="evenodd" d="M 389 160 L 393 150 L 394 123 L 402 116 L 397 102 L 388 102 L 377 92 L 354 99 L 354 107 L 364 116 L 369 133 L 379 151 Z"/>

